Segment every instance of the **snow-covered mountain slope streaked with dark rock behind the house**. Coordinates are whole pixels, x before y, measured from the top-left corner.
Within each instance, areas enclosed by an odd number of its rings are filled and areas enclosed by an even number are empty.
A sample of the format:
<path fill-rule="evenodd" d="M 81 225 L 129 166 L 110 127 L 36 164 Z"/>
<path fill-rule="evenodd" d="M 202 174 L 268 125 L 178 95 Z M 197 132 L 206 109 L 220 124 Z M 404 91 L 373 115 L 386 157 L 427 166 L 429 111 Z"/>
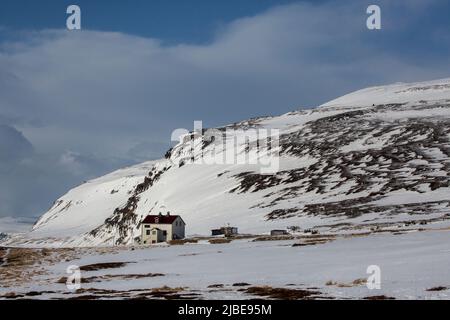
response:
<path fill-rule="evenodd" d="M 346 232 L 450 218 L 450 79 L 367 88 L 217 131 L 227 129 L 235 130 L 233 139 L 244 130 L 278 129 L 276 150 L 245 139 L 234 150 L 249 159 L 277 151 L 279 170 L 198 164 L 201 155 L 230 150 L 217 151 L 218 141 L 199 132 L 186 134 L 164 159 L 70 190 L 30 233 L 7 241 L 130 244 L 147 214 L 167 211 L 183 217 L 188 235 L 227 223 L 242 233 L 289 226 Z"/>

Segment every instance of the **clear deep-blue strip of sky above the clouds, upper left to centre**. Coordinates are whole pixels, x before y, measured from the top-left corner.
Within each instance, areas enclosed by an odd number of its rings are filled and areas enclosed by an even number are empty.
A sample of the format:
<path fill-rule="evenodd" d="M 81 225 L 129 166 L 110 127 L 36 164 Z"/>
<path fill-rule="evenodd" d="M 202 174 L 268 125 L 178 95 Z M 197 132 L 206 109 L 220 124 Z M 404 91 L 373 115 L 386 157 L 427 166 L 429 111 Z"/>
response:
<path fill-rule="evenodd" d="M 83 26 L 99 31 L 119 31 L 158 38 L 165 43 L 201 43 L 230 21 L 258 14 L 292 0 L 42 0 L 2 1 L 0 21 L 13 29 L 61 28 L 65 10 L 77 4 Z M 318 2 L 318 1 L 317 1 Z"/>

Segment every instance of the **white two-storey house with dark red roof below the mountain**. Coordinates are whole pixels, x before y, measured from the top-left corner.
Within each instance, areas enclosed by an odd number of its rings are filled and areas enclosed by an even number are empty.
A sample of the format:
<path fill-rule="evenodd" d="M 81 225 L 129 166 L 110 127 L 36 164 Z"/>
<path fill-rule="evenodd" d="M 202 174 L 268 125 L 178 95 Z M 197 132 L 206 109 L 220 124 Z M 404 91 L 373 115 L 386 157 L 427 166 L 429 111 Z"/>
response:
<path fill-rule="evenodd" d="M 141 223 L 141 243 L 153 244 L 183 239 L 186 223 L 180 216 L 148 215 Z"/>

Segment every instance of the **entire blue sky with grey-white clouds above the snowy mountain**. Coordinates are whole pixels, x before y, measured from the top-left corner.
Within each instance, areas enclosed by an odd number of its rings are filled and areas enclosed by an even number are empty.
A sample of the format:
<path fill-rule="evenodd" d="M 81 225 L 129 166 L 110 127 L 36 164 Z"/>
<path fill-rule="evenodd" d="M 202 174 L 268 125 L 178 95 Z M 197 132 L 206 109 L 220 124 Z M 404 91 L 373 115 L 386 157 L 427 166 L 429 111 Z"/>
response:
<path fill-rule="evenodd" d="M 67 30 L 66 8 L 81 8 Z M 366 9 L 381 8 L 381 30 Z M 157 159 L 177 128 L 450 77 L 446 0 L 0 2 L 0 217 Z"/>

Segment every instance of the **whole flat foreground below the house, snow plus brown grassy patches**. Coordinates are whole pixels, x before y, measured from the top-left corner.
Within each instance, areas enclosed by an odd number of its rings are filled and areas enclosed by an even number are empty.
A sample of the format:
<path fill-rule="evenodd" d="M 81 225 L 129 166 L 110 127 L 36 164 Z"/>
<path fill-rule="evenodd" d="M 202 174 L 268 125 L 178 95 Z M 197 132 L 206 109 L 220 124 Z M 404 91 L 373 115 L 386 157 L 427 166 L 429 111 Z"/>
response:
<path fill-rule="evenodd" d="M 224 244 L 204 239 L 151 248 L 3 250 L 0 295 L 38 299 L 250 299 L 265 294 L 265 286 L 269 286 L 284 288 L 283 294 L 294 294 L 291 298 L 305 294 L 305 298 L 313 299 L 449 299 L 449 235 L 448 224 L 436 224 L 424 231 L 311 235 L 276 241 L 254 241 L 253 237 Z M 293 246 L 308 242 L 311 245 Z M 8 261 L 7 255 L 13 255 L 13 250 L 35 250 L 41 256 L 38 254 L 39 261 L 29 266 L 24 262 L 21 269 Z M 70 291 L 65 285 L 70 265 L 82 270 L 84 281 L 78 291 Z M 365 284 L 369 265 L 381 268 L 379 290 L 369 290 Z M 96 268 L 99 270 L 93 270 Z"/>

